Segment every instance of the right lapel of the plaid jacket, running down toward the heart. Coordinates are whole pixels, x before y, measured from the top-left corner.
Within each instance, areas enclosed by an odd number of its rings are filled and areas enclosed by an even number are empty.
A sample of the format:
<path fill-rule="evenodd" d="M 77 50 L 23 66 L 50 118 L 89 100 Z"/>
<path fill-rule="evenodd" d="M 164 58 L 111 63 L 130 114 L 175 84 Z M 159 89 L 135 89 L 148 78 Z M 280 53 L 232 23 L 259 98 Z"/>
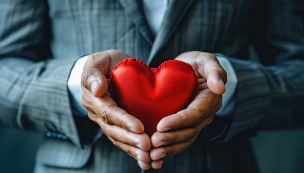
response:
<path fill-rule="evenodd" d="M 147 64 L 150 64 L 157 52 L 172 36 L 193 0 L 169 0 L 168 9 L 162 26 L 156 35 Z"/>

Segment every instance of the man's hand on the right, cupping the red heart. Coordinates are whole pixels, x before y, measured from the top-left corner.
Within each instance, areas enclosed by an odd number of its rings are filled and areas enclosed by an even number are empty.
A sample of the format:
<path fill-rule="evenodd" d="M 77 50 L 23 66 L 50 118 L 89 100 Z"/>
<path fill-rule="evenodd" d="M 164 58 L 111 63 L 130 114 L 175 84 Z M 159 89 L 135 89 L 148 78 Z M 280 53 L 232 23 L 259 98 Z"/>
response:
<path fill-rule="evenodd" d="M 151 136 L 151 167 L 159 169 L 164 160 L 187 149 L 199 132 L 213 121 L 222 106 L 227 74 L 215 55 L 199 51 L 185 52 L 176 59 L 192 65 L 198 76 L 199 88 L 188 107 L 164 117 Z"/>

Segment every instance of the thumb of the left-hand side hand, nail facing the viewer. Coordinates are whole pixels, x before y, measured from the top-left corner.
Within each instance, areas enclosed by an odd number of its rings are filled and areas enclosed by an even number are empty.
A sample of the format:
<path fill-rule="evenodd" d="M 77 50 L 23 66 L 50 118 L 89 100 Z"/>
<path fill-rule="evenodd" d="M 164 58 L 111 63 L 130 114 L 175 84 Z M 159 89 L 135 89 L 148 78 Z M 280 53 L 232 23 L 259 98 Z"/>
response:
<path fill-rule="evenodd" d="M 97 69 L 88 71 L 85 71 L 84 69 L 82 86 L 87 88 L 95 97 L 103 96 L 108 90 L 107 78 Z"/>

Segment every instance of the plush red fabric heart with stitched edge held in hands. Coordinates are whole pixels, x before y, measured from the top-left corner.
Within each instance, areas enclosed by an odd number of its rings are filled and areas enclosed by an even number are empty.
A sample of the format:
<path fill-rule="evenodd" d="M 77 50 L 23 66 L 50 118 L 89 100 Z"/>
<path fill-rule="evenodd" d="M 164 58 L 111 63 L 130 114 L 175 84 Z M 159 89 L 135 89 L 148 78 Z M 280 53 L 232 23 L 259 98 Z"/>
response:
<path fill-rule="evenodd" d="M 198 82 L 190 64 L 169 60 L 158 68 L 129 58 L 111 74 L 112 96 L 117 104 L 138 118 L 151 136 L 158 122 L 187 107 L 194 98 Z"/>

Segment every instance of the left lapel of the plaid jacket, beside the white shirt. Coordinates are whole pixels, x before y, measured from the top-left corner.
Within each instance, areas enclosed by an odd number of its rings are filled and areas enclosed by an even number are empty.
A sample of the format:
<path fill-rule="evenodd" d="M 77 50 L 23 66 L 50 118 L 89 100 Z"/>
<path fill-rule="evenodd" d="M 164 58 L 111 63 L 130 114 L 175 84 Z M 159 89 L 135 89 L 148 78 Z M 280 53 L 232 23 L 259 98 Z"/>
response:
<path fill-rule="evenodd" d="M 119 0 L 141 35 L 152 45 L 152 33 L 138 0 Z"/>

